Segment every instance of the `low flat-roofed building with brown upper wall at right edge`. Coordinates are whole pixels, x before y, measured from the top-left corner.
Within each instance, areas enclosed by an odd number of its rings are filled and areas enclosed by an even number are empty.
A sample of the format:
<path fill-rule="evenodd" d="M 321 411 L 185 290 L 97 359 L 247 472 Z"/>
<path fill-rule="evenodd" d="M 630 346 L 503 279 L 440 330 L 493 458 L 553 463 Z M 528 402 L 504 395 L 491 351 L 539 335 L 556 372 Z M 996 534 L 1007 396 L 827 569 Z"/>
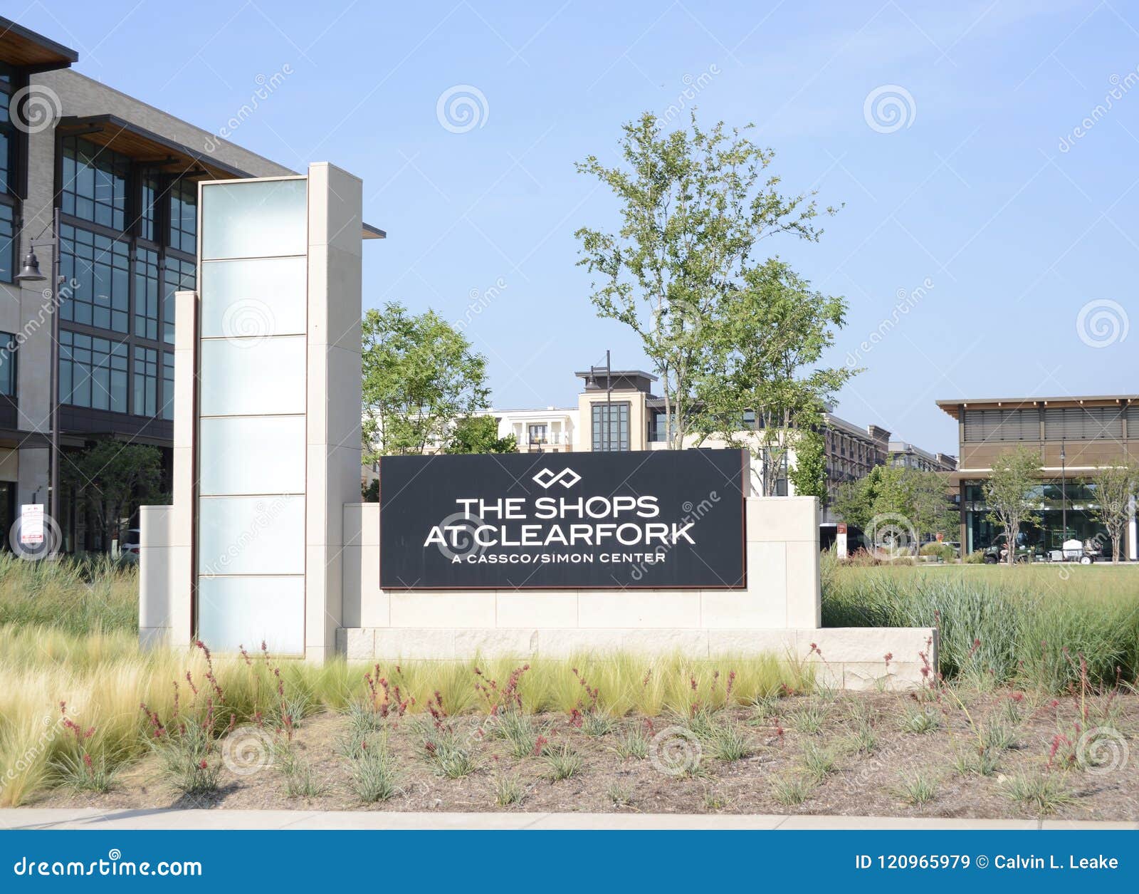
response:
<path fill-rule="evenodd" d="M 1026 528 L 1025 545 L 1047 552 L 1074 538 L 1095 541 L 1111 554 L 1088 479 L 1098 466 L 1139 462 L 1139 396 L 957 399 L 937 406 L 957 421 L 960 460 L 953 480 L 962 552 L 984 550 L 1000 534 L 988 519 L 984 481 L 1000 454 L 1027 447 L 1040 457 L 1040 483 L 1032 494 L 1040 525 Z M 1123 555 L 1134 560 L 1133 515 L 1126 541 Z"/>

